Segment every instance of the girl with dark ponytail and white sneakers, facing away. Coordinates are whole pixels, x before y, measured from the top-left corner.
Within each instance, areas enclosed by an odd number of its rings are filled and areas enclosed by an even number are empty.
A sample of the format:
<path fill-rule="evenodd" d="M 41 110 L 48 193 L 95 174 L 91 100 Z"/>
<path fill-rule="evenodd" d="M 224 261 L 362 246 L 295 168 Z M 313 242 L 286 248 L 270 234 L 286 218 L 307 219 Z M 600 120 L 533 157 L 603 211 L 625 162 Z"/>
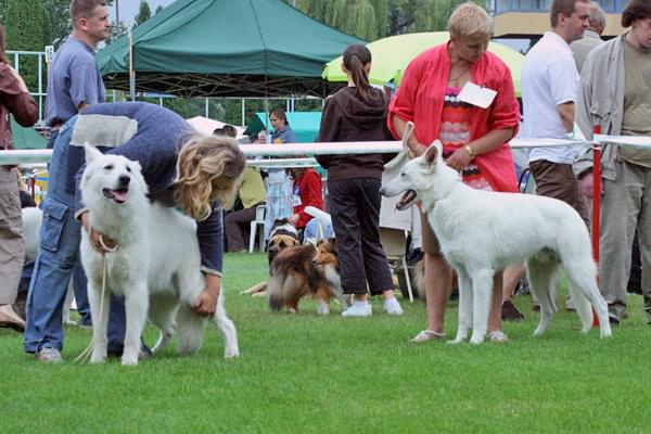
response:
<path fill-rule="evenodd" d="M 392 140 L 386 128 L 387 99 L 369 85 L 371 52 L 362 44 L 348 46 L 342 68 L 348 76 L 348 86 L 326 100 L 317 141 Z M 355 302 L 342 314 L 344 317 L 372 314 L 367 282 L 371 294 L 383 293 L 384 311 L 403 314 L 380 243 L 384 158 L 382 154 L 317 156 L 328 169 L 328 208 L 337 238 L 342 288 L 345 294 L 355 294 Z"/>

